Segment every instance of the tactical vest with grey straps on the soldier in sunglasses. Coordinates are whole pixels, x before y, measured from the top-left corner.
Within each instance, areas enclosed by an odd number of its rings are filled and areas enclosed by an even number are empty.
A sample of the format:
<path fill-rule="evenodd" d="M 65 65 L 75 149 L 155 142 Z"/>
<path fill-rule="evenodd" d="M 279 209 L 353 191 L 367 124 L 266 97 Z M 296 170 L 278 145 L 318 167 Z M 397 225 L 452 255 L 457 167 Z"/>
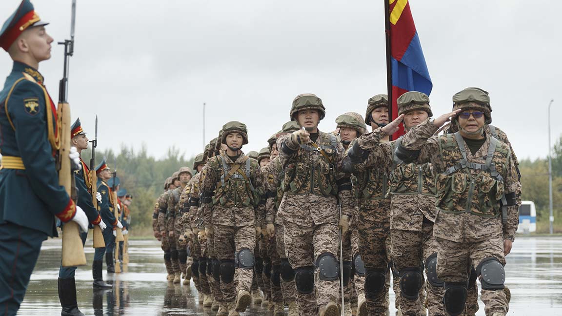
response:
<path fill-rule="evenodd" d="M 486 162 L 477 164 L 467 161 L 464 140 L 459 132 L 439 137 L 439 151 L 446 168 L 436 181 L 436 205 L 439 211 L 472 213 L 491 218 L 500 215 L 500 201 L 506 205 L 501 174 L 507 170 L 511 153 L 509 148 L 506 150 L 497 145 L 498 140 L 490 137 Z M 472 174 L 470 169 L 478 172 Z"/>

